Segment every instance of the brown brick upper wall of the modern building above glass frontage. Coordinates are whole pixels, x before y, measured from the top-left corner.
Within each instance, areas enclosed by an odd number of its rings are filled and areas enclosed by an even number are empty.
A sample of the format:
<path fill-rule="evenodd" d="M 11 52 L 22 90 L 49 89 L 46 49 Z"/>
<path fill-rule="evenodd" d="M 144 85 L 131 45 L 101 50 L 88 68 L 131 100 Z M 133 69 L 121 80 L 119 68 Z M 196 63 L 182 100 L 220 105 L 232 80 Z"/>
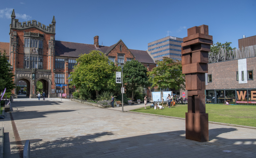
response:
<path fill-rule="evenodd" d="M 247 70 L 256 70 L 256 57 L 247 58 Z M 247 89 L 256 88 L 256 71 L 253 71 L 254 80 L 239 84 L 236 81 L 238 60 L 223 61 L 208 64 L 208 74 L 212 75 L 212 82 L 207 83 L 206 89 Z M 247 72 L 244 72 L 247 75 Z"/>

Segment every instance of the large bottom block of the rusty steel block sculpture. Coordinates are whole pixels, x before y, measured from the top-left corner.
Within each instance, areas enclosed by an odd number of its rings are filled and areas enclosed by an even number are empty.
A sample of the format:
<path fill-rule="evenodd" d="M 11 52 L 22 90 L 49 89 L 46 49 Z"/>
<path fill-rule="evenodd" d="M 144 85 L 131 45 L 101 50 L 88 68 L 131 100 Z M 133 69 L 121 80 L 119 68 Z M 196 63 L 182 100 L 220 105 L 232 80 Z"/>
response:
<path fill-rule="evenodd" d="M 208 142 L 208 113 L 186 113 L 186 139 Z"/>

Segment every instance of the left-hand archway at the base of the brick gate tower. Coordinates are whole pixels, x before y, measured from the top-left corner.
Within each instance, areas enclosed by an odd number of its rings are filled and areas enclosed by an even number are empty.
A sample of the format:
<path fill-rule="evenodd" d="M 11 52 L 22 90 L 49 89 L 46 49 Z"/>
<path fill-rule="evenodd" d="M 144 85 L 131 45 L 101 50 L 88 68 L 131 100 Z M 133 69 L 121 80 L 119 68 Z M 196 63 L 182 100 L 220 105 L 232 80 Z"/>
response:
<path fill-rule="evenodd" d="M 23 95 L 22 97 L 26 96 L 26 97 L 29 97 L 30 93 L 32 92 L 31 91 L 31 79 L 29 77 L 19 77 L 15 80 L 15 96 L 17 97 L 20 97 L 18 95 L 18 87 L 23 87 L 23 93 L 26 94 L 26 95 Z M 26 86 L 24 86 L 26 85 Z M 25 87 L 25 89 L 24 89 Z M 21 88 L 19 89 L 21 90 Z"/>

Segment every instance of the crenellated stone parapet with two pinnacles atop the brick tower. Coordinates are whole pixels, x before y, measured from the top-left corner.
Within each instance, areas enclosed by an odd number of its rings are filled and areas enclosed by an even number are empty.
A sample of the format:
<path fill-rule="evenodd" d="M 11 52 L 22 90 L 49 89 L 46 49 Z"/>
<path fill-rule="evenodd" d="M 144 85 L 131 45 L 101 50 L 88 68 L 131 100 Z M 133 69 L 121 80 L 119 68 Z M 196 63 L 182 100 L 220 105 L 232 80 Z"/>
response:
<path fill-rule="evenodd" d="M 45 33 L 54 33 L 55 34 L 55 17 L 53 16 L 52 24 L 49 24 L 49 26 L 45 26 L 45 24 L 41 24 L 40 22 L 37 22 L 37 20 L 30 20 L 25 22 L 19 22 L 18 19 L 15 19 L 15 12 L 14 9 L 12 11 L 12 23 L 10 24 L 11 29 L 27 29 L 27 28 L 38 28 L 39 30 L 45 32 Z"/>

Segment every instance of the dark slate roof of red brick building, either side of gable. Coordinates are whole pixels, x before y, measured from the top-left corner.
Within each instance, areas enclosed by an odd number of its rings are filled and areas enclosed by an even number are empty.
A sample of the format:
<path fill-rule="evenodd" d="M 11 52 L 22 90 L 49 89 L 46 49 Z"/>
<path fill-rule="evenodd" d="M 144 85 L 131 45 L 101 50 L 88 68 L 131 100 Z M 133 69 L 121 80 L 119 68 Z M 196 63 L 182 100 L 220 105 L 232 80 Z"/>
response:
<path fill-rule="evenodd" d="M 99 48 L 96 48 L 95 45 L 65 42 L 65 41 L 55 41 L 55 55 L 65 56 L 65 57 L 79 57 L 80 54 L 89 54 L 89 52 L 92 50 L 98 50 L 103 53 L 108 53 L 114 47 L 114 45 L 111 45 L 110 47 L 100 45 Z M 139 62 L 155 64 L 152 57 L 146 51 L 134 50 L 134 49 L 129 49 L 129 50 L 135 56 L 135 59 L 138 60 Z"/>

